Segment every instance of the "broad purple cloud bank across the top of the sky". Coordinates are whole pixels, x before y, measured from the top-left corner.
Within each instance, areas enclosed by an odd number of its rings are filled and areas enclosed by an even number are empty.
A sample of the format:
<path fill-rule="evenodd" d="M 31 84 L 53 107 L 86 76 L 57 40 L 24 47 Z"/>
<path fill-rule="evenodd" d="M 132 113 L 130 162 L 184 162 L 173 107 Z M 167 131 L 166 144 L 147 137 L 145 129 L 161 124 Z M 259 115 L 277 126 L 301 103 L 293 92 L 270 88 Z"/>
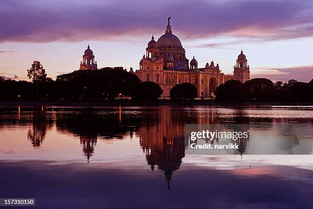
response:
<path fill-rule="evenodd" d="M 216 35 L 298 38 L 313 35 L 309 0 L 19 1 L 2 0 L 3 41 L 111 40 L 165 31 L 185 39 Z"/>

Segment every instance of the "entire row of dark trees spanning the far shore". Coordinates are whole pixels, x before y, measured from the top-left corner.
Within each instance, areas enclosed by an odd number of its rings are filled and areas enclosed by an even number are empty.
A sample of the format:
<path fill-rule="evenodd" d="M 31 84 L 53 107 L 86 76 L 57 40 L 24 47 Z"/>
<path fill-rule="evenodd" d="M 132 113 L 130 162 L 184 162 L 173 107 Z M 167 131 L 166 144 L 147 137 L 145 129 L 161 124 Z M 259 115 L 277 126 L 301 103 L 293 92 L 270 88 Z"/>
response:
<path fill-rule="evenodd" d="M 34 61 L 27 72 L 32 82 L 0 77 L 1 101 L 103 102 L 125 97 L 155 100 L 163 93 L 157 83 L 142 82 L 122 69 L 77 70 L 53 80 L 47 77 L 40 62 Z M 275 83 L 266 78 L 244 83 L 228 80 L 214 94 L 217 101 L 225 102 L 313 102 L 313 79 L 308 83 L 294 79 Z M 197 96 L 197 89 L 191 83 L 181 83 L 170 90 L 171 99 L 192 100 Z"/>

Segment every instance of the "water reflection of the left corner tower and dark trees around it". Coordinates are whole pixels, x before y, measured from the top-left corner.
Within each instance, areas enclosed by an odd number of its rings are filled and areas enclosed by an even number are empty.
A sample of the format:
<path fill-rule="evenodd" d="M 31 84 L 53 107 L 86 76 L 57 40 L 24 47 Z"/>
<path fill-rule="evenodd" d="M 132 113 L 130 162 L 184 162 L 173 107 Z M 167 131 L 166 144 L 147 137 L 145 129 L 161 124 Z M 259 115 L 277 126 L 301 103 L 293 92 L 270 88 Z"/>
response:
<path fill-rule="evenodd" d="M 121 120 L 120 107 L 117 110 L 76 109 L 59 113 L 56 127 L 58 132 L 79 137 L 82 152 L 89 162 L 98 139 L 105 142 L 123 139 L 125 134 L 136 131 L 139 121 L 140 117 L 133 115 L 125 115 L 124 120 Z"/>

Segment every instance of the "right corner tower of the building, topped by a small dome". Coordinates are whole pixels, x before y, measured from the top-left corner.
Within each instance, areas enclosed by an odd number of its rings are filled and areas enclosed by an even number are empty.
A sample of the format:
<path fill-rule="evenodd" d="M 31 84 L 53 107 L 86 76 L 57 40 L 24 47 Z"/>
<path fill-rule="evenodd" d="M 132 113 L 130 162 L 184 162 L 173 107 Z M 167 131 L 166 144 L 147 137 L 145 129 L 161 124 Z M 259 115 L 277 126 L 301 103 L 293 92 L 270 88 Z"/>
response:
<path fill-rule="evenodd" d="M 248 59 L 243 54 L 242 50 L 238 55 L 236 65 L 234 66 L 234 80 L 239 80 L 242 83 L 250 80 L 250 67 L 248 65 Z"/>

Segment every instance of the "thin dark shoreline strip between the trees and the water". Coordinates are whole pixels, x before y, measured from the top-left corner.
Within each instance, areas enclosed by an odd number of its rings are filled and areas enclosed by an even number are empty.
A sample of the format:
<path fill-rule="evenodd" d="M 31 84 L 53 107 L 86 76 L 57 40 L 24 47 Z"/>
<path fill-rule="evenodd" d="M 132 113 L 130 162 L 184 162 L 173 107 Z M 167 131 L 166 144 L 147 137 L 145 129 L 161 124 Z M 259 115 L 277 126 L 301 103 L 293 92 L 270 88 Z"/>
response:
<path fill-rule="evenodd" d="M 114 107 L 114 106 L 139 106 L 139 107 L 153 107 L 153 106 L 209 106 L 209 107 L 272 107 L 272 106 L 294 106 L 294 107 L 312 107 L 312 102 L 215 102 L 207 100 L 193 100 L 193 101 L 121 101 L 121 102 L 40 102 L 40 101 L 2 101 L 0 107 L 41 107 L 41 106 L 62 106 L 62 107 Z"/>

